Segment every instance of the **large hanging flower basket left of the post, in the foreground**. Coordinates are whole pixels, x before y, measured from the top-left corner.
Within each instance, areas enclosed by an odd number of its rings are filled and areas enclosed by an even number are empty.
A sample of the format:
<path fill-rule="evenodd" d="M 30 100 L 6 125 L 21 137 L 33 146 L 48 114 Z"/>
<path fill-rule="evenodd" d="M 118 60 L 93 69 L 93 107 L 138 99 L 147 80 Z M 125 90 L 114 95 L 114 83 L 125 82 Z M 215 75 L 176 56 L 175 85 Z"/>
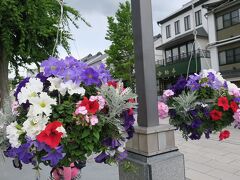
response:
<path fill-rule="evenodd" d="M 104 65 L 89 67 L 73 57 L 49 58 L 42 72 L 19 83 L 16 120 L 7 125 L 6 157 L 15 166 L 51 166 L 54 179 L 77 177 L 87 157 L 117 163 L 127 157 L 133 136 L 136 95 L 114 82 Z"/>

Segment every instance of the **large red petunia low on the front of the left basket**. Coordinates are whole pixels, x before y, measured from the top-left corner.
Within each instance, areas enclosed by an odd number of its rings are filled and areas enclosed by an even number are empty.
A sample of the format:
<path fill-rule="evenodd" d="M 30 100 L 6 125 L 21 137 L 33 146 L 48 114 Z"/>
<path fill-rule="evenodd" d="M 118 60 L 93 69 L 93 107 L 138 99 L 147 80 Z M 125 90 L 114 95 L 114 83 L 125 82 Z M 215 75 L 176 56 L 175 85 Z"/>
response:
<path fill-rule="evenodd" d="M 59 145 L 61 138 L 63 136 L 62 132 L 57 131 L 58 127 L 61 127 L 62 123 L 59 121 L 54 121 L 49 123 L 45 130 L 43 130 L 39 135 L 37 135 L 37 140 L 39 142 L 44 142 L 51 148 L 55 148 Z"/>

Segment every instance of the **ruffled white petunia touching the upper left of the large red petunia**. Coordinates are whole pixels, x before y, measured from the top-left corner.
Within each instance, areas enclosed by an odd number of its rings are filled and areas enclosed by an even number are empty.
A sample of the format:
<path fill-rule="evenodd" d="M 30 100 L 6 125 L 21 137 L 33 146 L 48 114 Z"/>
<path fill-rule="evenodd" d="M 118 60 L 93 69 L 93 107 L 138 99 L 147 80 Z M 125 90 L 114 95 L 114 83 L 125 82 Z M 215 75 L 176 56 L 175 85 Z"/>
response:
<path fill-rule="evenodd" d="M 27 133 L 27 136 L 32 140 L 36 139 L 36 136 L 45 129 L 48 123 L 48 118 L 46 116 L 36 116 L 29 117 L 23 123 L 23 130 Z"/>

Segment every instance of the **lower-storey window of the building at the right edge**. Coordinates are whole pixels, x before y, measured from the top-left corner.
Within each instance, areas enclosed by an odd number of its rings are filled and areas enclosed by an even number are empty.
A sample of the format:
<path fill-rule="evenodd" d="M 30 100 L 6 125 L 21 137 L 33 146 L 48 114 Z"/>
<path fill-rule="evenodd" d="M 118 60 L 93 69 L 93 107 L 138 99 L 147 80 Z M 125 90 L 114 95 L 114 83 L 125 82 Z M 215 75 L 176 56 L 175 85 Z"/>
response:
<path fill-rule="evenodd" d="M 219 64 L 232 64 L 240 62 L 240 47 L 219 52 Z"/>

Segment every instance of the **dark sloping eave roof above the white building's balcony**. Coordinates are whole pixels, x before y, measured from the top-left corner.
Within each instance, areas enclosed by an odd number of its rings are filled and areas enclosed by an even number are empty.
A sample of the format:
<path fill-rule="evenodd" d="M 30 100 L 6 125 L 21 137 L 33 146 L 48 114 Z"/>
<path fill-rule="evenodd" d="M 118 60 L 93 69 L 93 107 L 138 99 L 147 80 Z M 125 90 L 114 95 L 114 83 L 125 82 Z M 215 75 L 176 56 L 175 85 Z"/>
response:
<path fill-rule="evenodd" d="M 206 30 L 203 27 L 196 29 L 196 31 L 197 31 L 198 37 L 208 38 L 208 33 L 206 32 Z M 193 39 L 194 39 L 193 31 L 189 31 L 185 34 L 177 36 L 177 37 L 173 38 L 172 40 L 158 46 L 156 49 L 163 50 L 163 49 L 170 48 L 174 45 L 181 44 L 181 43 L 193 40 Z"/>

